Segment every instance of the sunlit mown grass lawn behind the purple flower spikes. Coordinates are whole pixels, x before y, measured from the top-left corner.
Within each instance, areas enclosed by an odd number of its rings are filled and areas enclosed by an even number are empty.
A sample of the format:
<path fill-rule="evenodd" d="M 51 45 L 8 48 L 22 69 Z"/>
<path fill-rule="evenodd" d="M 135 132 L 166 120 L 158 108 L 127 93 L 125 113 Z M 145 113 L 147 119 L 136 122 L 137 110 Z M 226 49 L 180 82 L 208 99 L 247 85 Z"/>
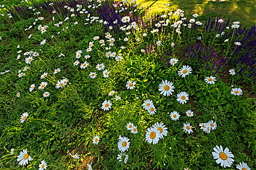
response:
<path fill-rule="evenodd" d="M 226 0 L 223 2 L 208 1 L 208 0 L 138 0 L 138 3 L 149 6 L 150 13 L 166 11 L 165 3 L 169 3 L 168 7 L 171 10 L 178 8 L 185 11 L 188 17 L 193 14 L 199 14 L 200 20 L 216 17 L 219 15 L 225 16 L 230 20 L 240 21 L 243 26 L 251 27 L 256 24 L 256 3 L 254 0 Z"/>

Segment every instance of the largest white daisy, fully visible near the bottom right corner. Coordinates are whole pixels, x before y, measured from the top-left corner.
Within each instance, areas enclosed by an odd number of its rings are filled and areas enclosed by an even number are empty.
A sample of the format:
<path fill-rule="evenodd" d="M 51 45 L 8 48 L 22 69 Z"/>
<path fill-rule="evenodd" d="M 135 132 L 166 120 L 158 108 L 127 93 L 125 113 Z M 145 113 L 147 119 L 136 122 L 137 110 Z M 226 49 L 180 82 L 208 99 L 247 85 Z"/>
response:
<path fill-rule="evenodd" d="M 220 163 L 220 166 L 224 168 L 231 167 L 231 165 L 234 162 L 234 159 L 232 159 L 234 158 L 234 155 L 231 152 L 229 152 L 228 148 L 225 148 L 225 150 L 223 151 L 223 148 L 220 145 L 220 146 L 214 147 L 214 151 L 215 152 L 212 152 L 212 154 L 214 159 L 217 159 L 216 160 L 217 164 Z"/>

